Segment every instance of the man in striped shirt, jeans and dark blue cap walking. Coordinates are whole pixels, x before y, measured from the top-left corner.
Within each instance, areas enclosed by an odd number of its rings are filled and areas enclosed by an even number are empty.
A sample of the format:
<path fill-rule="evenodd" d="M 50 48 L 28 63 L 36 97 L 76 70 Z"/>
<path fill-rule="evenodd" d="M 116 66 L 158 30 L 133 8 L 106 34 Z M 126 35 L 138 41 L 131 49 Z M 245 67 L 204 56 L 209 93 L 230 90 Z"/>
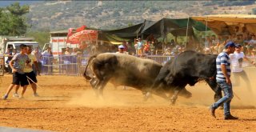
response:
<path fill-rule="evenodd" d="M 211 115 L 215 116 L 215 110 L 218 106 L 224 104 L 224 115 L 225 120 L 234 120 L 238 119 L 230 114 L 230 102 L 233 98 L 233 90 L 232 90 L 232 83 L 230 81 L 230 57 L 229 54 L 234 53 L 234 42 L 227 42 L 225 46 L 225 50 L 218 54 L 216 58 L 216 68 L 217 68 L 217 75 L 216 75 L 216 82 L 222 88 L 224 92 L 224 96 L 215 102 L 212 106 L 210 106 Z"/>

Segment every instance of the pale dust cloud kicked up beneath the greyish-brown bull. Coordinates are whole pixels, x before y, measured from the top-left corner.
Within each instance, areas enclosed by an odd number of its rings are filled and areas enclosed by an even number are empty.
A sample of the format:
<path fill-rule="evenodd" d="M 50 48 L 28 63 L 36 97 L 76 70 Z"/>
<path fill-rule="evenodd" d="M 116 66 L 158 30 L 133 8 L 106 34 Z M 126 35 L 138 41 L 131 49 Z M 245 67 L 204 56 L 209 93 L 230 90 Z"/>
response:
<path fill-rule="evenodd" d="M 81 95 L 74 97 L 67 103 L 68 106 L 86 106 L 86 107 L 113 107 L 113 106 L 166 106 L 162 98 L 150 98 L 147 102 L 143 101 L 143 95 L 140 90 L 128 87 L 123 90 L 123 86 L 114 86 L 109 84 L 103 91 L 103 98 L 98 98 L 94 90 L 85 90 Z"/>

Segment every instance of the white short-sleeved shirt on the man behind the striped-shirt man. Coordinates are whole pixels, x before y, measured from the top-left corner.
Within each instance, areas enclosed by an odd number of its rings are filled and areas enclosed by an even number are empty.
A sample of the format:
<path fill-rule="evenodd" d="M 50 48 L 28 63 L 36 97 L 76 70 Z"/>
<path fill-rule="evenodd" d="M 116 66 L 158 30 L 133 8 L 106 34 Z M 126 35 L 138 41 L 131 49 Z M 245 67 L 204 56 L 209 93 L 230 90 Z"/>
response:
<path fill-rule="evenodd" d="M 232 72 L 242 72 L 242 64 L 239 64 L 238 59 L 243 58 L 244 56 L 245 54 L 243 54 L 243 52 L 234 52 L 234 54 L 230 54 Z"/>

